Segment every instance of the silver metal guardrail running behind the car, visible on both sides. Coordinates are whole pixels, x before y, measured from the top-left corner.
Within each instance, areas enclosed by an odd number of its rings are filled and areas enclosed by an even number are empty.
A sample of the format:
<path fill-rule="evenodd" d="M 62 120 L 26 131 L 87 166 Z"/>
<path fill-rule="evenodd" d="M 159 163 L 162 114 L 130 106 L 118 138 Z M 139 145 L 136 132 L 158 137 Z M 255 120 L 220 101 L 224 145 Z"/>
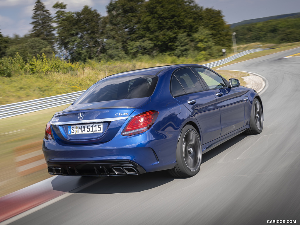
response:
<path fill-rule="evenodd" d="M 211 62 L 207 64 L 203 64 L 206 67 L 212 68 L 216 66 L 220 66 L 222 64 L 225 64 L 227 62 L 230 62 L 236 58 L 239 58 L 241 56 L 253 53 L 253 52 L 259 52 L 265 49 L 251 49 L 244 52 L 240 52 L 236 55 L 232 55 L 228 58 L 224 58 L 222 60 Z M 17 102 L 7 105 L 1 105 L 0 106 L 0 119 L 4 119 L 11 116 L 17 116 L 25 113 L 32 113 L 39 110 L 45 110 L 57 106 L 72 104 L 84 91 L 77 91 L 72 92 L 64 95 L 56 95 L 52 97 L 46 97 L 46 98 L 39 98 L 29 101 L 23 101 L 23 102 Z"/>

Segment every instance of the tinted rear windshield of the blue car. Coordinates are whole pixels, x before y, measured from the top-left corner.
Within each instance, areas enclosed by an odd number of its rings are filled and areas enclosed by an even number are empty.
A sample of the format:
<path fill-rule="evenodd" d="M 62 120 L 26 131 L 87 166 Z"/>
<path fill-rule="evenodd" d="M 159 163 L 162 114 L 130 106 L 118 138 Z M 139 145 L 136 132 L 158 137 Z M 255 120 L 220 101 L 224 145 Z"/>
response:
<path fill-rule="evenodd" d="M 154 75 L 103 79 L 88 88 L 75 104 L 149 97 L 153 94 L 157 80 L 158 77 Z"/>

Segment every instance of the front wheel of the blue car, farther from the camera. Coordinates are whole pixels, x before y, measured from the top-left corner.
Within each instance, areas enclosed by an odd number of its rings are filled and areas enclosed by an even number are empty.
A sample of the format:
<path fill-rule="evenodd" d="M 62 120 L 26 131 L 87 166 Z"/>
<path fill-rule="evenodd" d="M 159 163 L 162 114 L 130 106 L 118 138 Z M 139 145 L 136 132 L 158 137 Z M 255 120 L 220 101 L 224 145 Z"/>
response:
<path fill-rule="evenodd" d="M 262 106 L 257 99 L 253 100 L 251 116 L 250 116 L 250 128 L 245 131 L 246 134 L 260 134 L 263 128 L 263 112 Z"/>

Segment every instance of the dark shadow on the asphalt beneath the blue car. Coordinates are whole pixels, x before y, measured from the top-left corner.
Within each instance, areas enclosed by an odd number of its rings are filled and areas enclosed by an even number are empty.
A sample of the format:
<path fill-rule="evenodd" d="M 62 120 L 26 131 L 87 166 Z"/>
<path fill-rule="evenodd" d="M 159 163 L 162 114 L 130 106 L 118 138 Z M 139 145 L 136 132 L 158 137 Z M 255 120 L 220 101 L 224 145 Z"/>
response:
<path fill-rule="evenodd" d="M 229 149 L 234 144 L 243 140 L 246 137 L 240 134 L 223 144 L 215 147 L 211 151 L 203 154 L 202 163 L 209 161 L 221 152 Z M 200 172 L 201 173 L 201 170 Z M 197 176 L 197 175 L 196 175 Z M 74 182 L 73 189 L 69 185 L 69 181 Z M 75 179 L 75 180 L 74 180 Z M 113 177 L 61 177 L 57 176 L 52 181 L 54 190 L 70 192 L 70 193 L 94 193 L 94 194 L 111 194 L 111 193 L 134 193 L 143 190 L 149 190 L 155 187 L 172 182 L 178 179 L 189 178 L 174 178 L 167 171 L 158 171 L 152 173 L 144 173 L 141 175 L 132 176 L 113 176 Z M 65 183 L 65 185 L 64 185 Z M 89 185 L 90 184 L 90 185 Z"/>

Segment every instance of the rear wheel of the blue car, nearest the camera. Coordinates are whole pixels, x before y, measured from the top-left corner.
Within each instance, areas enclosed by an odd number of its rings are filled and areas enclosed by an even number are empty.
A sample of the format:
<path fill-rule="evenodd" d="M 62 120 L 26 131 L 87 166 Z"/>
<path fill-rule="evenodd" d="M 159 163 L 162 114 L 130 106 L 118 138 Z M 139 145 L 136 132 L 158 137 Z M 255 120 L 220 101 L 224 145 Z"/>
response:
<path fill-rule="evenodd" d="M 187 125 L 182 128 L 176 149 L 176 166 L 169 170 L 175 177 L 191 177 L 200 170 L 202 149 L 195 128 Z"/>

